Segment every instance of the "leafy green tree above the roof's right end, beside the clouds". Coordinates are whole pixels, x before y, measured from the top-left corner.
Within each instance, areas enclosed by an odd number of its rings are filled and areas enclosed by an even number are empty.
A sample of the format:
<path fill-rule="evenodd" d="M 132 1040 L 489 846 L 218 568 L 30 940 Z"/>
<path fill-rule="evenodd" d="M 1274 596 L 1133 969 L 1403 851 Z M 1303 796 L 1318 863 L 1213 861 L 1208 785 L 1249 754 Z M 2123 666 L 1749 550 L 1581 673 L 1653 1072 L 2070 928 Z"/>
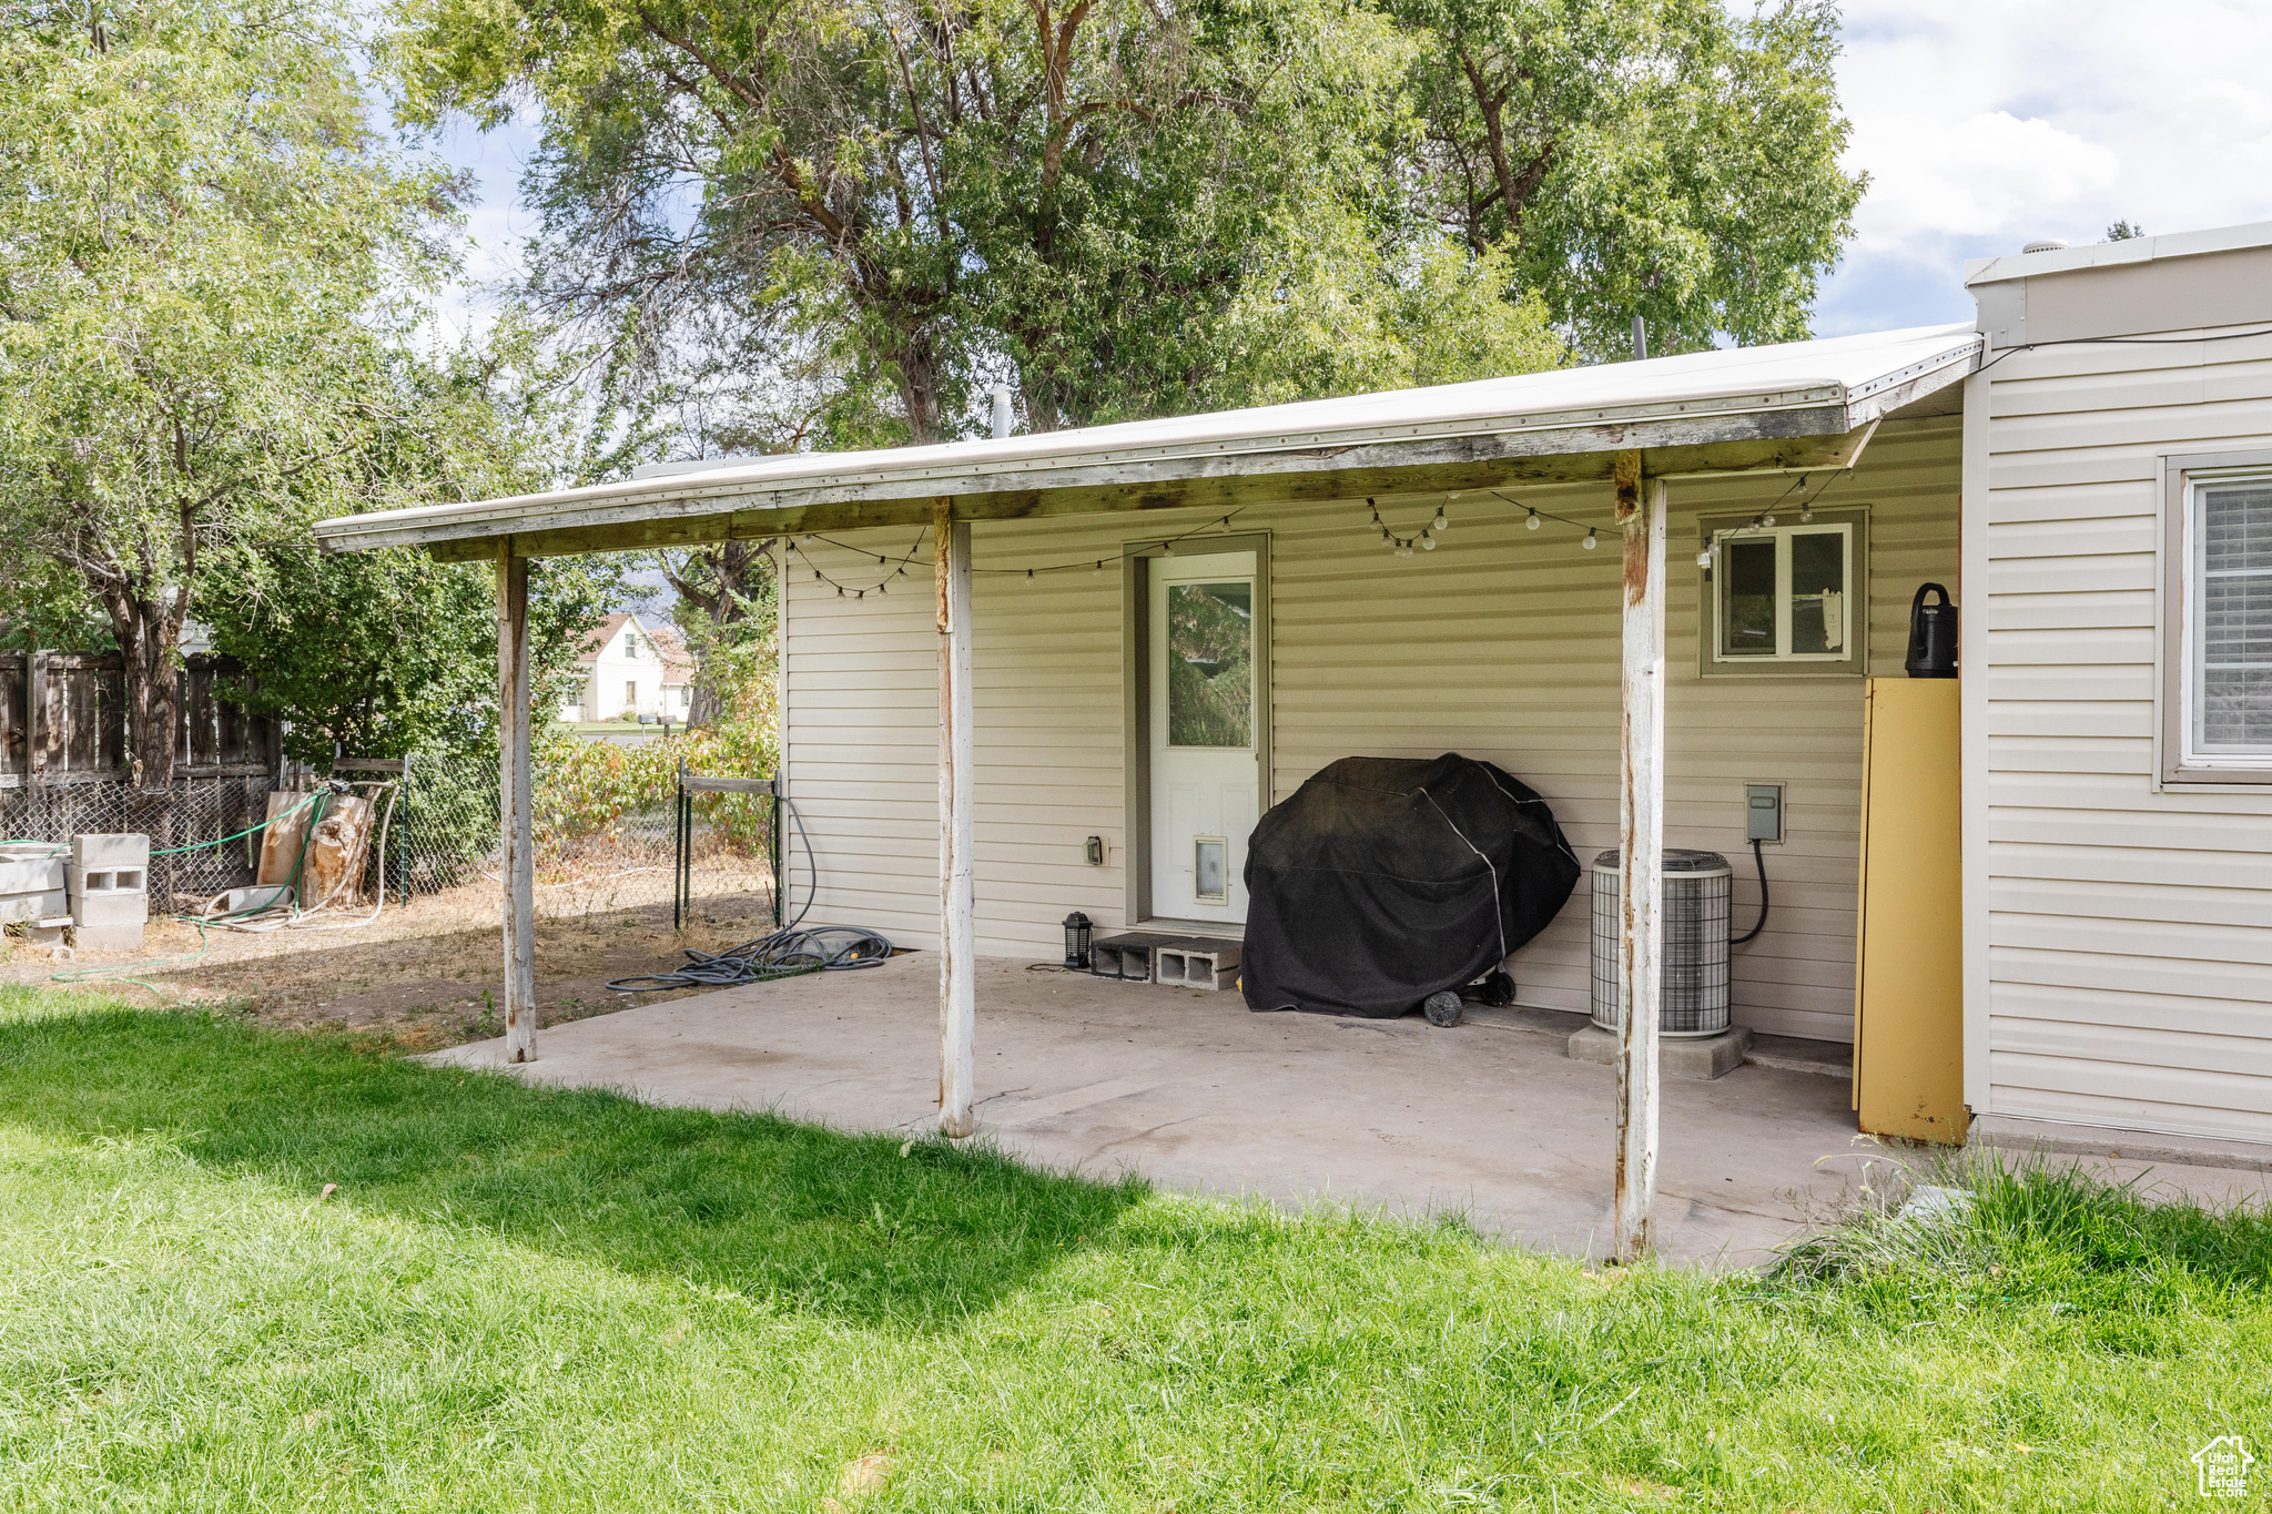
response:
<path fill-rule="evenodd" d="M 1599 359 L 1806 336 L 1863 177 L 1831 0 L 1388 0 L 1422 39 L 1418 209 Z"/>

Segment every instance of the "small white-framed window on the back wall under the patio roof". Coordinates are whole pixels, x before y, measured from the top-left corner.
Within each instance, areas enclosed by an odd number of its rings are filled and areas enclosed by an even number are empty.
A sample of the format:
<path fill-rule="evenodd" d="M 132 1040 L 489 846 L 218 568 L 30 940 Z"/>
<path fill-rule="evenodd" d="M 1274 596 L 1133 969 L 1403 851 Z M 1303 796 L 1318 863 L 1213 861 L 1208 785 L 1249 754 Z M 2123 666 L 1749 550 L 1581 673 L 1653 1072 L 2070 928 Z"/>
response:
<path fill-rule="evenodd" d="M 1706 672 L 1858 670 L 1868 631 L 1858 542 L 1858 520 L 1706 522 Z"/>

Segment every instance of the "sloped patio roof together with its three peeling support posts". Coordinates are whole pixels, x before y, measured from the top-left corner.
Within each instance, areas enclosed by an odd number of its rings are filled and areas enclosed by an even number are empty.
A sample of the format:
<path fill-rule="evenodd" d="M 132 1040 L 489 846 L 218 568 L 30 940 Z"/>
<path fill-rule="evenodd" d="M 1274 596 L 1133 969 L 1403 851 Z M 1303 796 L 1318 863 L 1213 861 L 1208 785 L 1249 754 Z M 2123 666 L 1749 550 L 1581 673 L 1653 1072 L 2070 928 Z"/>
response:
<path fill-rule="evenodd" d="M 1611 483 L 1622 538 L 1618 679 L 1615 1255 L 1654 1239 L 1663 983 L 1665 479 L 1849 468 L 1888 413 L 1979 365 L 1968 325 L 1143 420 L 943 447 L 795 452 L 650 470 L 518 499 L 345 515 L 332 552 L 425 547 L 498 572 L 504 1060 L 536 1055 L 529 558 L 870 524 L 932 527 L 938 606 L 938 1128 L 977 1130 L 970 527 L 1263 499 Z"/>

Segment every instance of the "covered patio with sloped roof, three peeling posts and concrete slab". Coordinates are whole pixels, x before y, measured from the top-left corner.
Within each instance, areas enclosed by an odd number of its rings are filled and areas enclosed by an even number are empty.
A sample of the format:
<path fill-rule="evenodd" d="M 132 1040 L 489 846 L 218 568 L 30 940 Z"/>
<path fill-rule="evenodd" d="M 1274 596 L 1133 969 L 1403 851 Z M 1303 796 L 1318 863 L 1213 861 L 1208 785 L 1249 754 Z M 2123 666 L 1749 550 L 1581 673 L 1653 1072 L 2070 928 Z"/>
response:
<path fill-rule="evenodd" d="M 507 1033 L 498 1055 L 507 1065 L 534 1062 L 538 1078 L 632 1085 L 659 1099 L 777 1103 L 863 1128 L 932 1124 L 950 1137 L 991 1130 L 1059 1162 L 1109 1162 L 1120 1153 L 1141 1158 L 1154 1176 L 1209 1189 L 1334 1192 L 1404 1210 L 1450 1203 L 1472 1208 L 1490 1228 L 1620 1262 L 1652 1251 L 1756 1253 L 1797 1217 L 1777 1194 L 1834 1194 L 1838 1178 L 1815 1162 L 1845 1151 L 1852 1117 L 1843 1083 L 1799 1071 L 1752 1067 L 1731 1085 L 1699 1092 L 1663 1092 L 1659 1083 L 1668 515 L 1688 481 L 1709 490 L 1756 479 L 1770 488 L 1768 502 L 1781 497 L 1772 490 L 1788 493 L 1786 474 L 1804 481 L 1852 472 L 1881 422 L 1943 404 L 1933 395 L 1963 379 L 1977 359 L 1979 336 L 1970 327 L 1924 327 L 1047 436 L 1009 436 L 1006 406 L 997 406 L 991 440 L 670 465 L 623 483 L 354 515 L 323 522 L 318 536 L 339 552 L 409 545 L 495 565 L 507 851 Z M 1559 1037 L 1525 1033 L 1536 1026 L 1525 1026 L 1520 1012 L 1509 1024 L 1477 1024 L 1425 1042 L 1415 1024 L 1263 1021 L 1245 1017 L 1236 999 L 1209 996 L 1204 1012 L 1220 1033 L 1181 1026 L 1170 1035 L 1152 1003 L 1122 1008 L 1095 985 L 1020 976 L 1022 967 L 979 960 L 975 922 L 986 897 L 1047 883 L 1011 869 L 982 876 L 977 860 L 975 785 L 984 760 L 977 742 L 986 733 L 977 729 L 972 679 L 975 638 L 984 636 L 972 615 L 972 524 L 1134 520 L 1145 511 L 1170 518 L 1206 511 L 1229 524 L 1245 508 L 1313 511 L 1325 520 L 1372 495 L 1456 497 L 1456 490 L 1527 483 L 1595 497 L 1599 529 L 1620 545 L 1602 558 L 1622 558 L 1615 588 L 1602 590 L 1602 608 L 1615 608 L 1620 651 L 1604 681 L 1604 695 L 1615 690 L 1613 794 L 1624 901 L 1613 981 L 1618 1001 L 1629 1006 L 1613 1069 L 1563 1060 Z M 925 956 L 872 974 L 729 990 L 695 1006 L 552 1031 L 538 1062 L 529 935 L 529 561 L 727 538 L 811 542 L 816 531 L 875 527 L 920 529 L 934 579 L 927 608 L 936 615 L 925 620 L 936 620 L 936 933 L 913 942 L 900 935 L 902 944 L 925 947 Z M 1413 540 L 1386 527 L 1381 538 L 1411 556 Z M 1588 529 L 1586 547 L 1593 545 Z M 1172 540 L 1116 549 L 1129 583 L 1154 549 L 1172 554 Z M 909 549 L 900 572 L 916 556 Z M 882 547 L 875 563 L 888 583 L 893 570 Z M 1091 565 L 1077 567 L 1086 574 Z M 1036 570 L 977 572 L 1022 572 L 1031 581 Z M 1104 581 L 1104 558 L 1095 561 L 1095 577 Z M 882 599 L 886 583 L 870 592 Z M 836 595 L 845 595 L 843 583 Z M 1259 697 L 1268 704 L 1268 674 L 1261 676 Z M 1256 758 L 1263 790 L 1272 792 L 1268 740 L 1256 745 Z M 797 792 L 816 776 L 804 765 L 786 781 Z M 1145 801 L 1136 788 L 1129 794 L 1125 829 L 1134 833 L 1143 829 Z M 929 842 L 920 849 L 929 851 Z M 911 860 L 913 844 L 888 851 L 897 865 Z M 1127 876 L 1141 892 L 1141 847 Z M 1147 912 L 1156 910 L 1131 903 L 1125 924 L 1143 924 Z M 1077 996 L 1070 1021 L 1072 1001 L 1052 1006 L 1052 994 Z M 757 999 L 804 1006 L 804 1019 L 786 1021 L 795 1026 L 788 1042 L 752 1040 L 743 1019 L 752 1019 Z M 911 1015 L 916 999 L 925 1015 Z M 657 1017 L 673 1015 L 686 1017 L 686 1028 L 652 1031 Z M 822 1015 L 850 1024 L 827 1024 Z M 754 1019 L 770 1024 L 772 1015 Z M 1550 1019 L 1568 1033 L 1568 1017 Z M 811 1031 L 818 1040 L 800 1051 L 795 1035 L 807 1024 L 820 1026 Z M 1118 1046 L 1104 1035 L 1111 1028 L 1125 1031 Z M 650 1033 L 652 1046 L 641 1040 Z M 666 1042 L 688 1037 L 725 1051 L 709 1060 L 666 1055 Z M 1411 1058 L 1381 1055 L 1390 1046 Z M 1486 1046 L 1495 1051 L 1484 1053 Z M 650 1065 L 657 1055 L 663 1062 Z M 1475 1062 L 1477 1055 L 1484 1060 Z M 797 1058 L 809 1060 L 804 1071 L 775 1083 L 772 1069 L 797 1067 Z M 718 1067 L 738 1067 L 738 1076 L 720 1080 Z M 1252 1067 L 1270 1069 L 1263 1083 Z M 1759 1085 L 1759 1101 L 1749 1085 Z M 1770 1085 L 1781 1092 L 1770 1096 Z M 1263 1101 L 1263 1087 L 1275 1103 Z M 1447 1087 L 1459 1096 L 1445 1096 Z M 1327 1096 L 1331 1090 L 1340 1092 Z M 1197 1139 L 1222 1121 L 1231 1121 L 1225 1139 Z M 1386 1124 L 1375 1130 L 1368 1121 Z M 1661 1121 L 1672 1128 L 1663 1144 Z M 1286 1160 L 1295 1151 L 1315 1160 Z M 1406 1151 L 1425 1155 L 1406 1160 Z M 1656 1203 L 1661 1169 L 1665 1205 Z M 1697 1217 L 1688 1205 L 1702 1205 Z"/>

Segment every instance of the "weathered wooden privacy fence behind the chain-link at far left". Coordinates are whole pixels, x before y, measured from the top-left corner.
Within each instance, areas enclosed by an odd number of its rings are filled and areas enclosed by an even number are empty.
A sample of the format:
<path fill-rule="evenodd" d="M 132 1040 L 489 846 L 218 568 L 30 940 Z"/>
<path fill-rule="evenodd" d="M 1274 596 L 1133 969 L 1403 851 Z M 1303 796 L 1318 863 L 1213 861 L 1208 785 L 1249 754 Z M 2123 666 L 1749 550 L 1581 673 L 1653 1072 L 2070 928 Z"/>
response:
<path fill-rule="evenodd" d="M 277 722 L 218 697 L 234 658 L 191 654 L 175 674 L 175 779 L 277 769 Z M 127 776 L 125 665 L 116 651 L 0 651 L 0 790 Z"/>

